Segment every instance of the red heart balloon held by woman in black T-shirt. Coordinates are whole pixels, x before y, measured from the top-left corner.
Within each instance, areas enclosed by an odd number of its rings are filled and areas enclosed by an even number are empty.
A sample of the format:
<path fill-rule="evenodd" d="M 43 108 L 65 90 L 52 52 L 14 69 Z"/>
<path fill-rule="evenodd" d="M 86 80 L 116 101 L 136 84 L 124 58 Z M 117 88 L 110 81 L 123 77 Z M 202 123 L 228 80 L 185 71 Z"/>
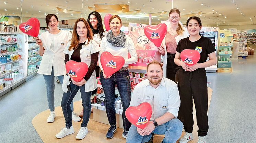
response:
<path fill-rule="evenodd" d="M 200 53 L 195 49 L 184 49 L 181 52 L 181 60 L 188 66 L 195 65 L 200 59 Z"/>

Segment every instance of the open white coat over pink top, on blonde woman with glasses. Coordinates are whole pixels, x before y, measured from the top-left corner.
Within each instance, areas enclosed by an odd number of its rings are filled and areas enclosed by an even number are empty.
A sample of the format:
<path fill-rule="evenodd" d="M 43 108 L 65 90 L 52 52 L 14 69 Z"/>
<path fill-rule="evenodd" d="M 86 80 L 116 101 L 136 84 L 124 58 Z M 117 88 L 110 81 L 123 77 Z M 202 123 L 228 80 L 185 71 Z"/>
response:
<path fill-rule="evenodd" d="M 169 27 L 169 26 L 170 25 L 167 25 L 167 27 Z M 183 28 L 185 30 L 183 32 L 183 34 L 182 35 L 178 35 L 178 36 L 175 37 L 177 45 L 179 43 L 179 40 L 187 38 L 189 36 L 187 28 L 185 28 L 185 27 L 183 27 Z M 166 77 L 166 64 L 167 64 L 167 51 L 166 51 L 166 45 L 165 45 L 165 37 L 164 37 L 164 39 L 162 41 L 162 44 L 164 45 L 164 51 L 165 51 L 164 60 L 163 60 L 163 63 L 164 63 L 163 64 L 163 74 L 164 74 L 164 77 Z"/>

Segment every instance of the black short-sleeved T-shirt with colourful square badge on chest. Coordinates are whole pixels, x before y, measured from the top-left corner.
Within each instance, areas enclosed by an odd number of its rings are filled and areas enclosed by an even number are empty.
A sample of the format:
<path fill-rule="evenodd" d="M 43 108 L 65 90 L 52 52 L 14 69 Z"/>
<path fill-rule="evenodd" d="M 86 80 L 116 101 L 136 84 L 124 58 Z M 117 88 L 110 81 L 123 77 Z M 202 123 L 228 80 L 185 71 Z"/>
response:
<path fill-rule="evenodd" d="M 181 53 L 184 49 L 196 49 L 196 47 L 202 47 L 202 52 L 200 53 L 200 59 L 197 63 L 203 63 L 206 62 L 208 54 L 211 54 L 212 52 L 216 51 L 212 41 L 207 37 L 202 37 L 195 41 L 191 42 L 187 38 L 179 40 L 179 43 L 177 45 L 176 51 Z M 202 68 L 199 68 L 202 69 Z"/>

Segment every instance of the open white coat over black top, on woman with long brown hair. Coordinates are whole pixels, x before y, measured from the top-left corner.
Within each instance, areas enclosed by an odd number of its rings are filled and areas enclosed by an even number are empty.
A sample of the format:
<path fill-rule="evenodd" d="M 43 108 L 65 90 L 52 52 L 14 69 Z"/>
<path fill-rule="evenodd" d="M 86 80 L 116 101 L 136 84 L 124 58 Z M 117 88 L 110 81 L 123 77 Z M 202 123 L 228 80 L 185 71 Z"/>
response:
<path fill-rule="evenodd" d="M 87 41 L 85 43 L 87 43 Z M 68 50 L 70 44 L 71 44 L 71 41 L 68 42 L 65 50 L 63 51 L 63 53 L 69 54 L 69 60 L 71 58 L 71 55 L 74 52 L 74 50 L 72 50 L 72 51 Z M 100 51 L 101 51 L 101 49 L 98 46 L 98 44 L 94 40 L 90 40 L 90 43 L 86 46 L 83 46 L 82 49 L 80 50 L 81 62 L 85 62 L 88 65 L 88 67 L 90 67 L 91 54 L 100 52 Z M 65 71 L 66 71 L 66 69 L 65 69 Z M 63 84 L 62 84 L 62 90 L 64 92 L 68 92 L 67 85 L 69 85 L 71 82 L 71 81 L 69 81 L 69 78 L 70 77 L 68 75 L 66 75 L 66 74 L 64 75 Z M 97 80 L 96 80 L 95 70 L 93 71 L 89 80 L 86 81 L 84 87 L 85 87 L 85 92 L 93 91 L 97 88 Z"/>

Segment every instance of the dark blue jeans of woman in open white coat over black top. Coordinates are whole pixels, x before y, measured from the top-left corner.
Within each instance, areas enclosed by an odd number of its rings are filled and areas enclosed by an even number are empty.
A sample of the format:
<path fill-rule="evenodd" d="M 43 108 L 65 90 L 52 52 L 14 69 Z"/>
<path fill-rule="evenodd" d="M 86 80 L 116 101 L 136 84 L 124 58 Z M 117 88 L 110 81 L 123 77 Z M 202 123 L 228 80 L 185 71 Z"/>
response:
<path fill-rule="evenodd" d="M 72 111 L 70 108 L 70 103 L 73 101 L 75 95 L 80 89 L 82 103 L 83 103 L 83 121 L 81 127 L 87 127 L 87 124 L 90 119 L 91 114 L 91 95 L 92 91 L 85 92 L 84 85 L 78 86 L 70 83 L 71 93 L 68 91 L 67 93 L 63 93 L 61 108 L 66 121 L 66 128 L 70 128 L 72 126 Z"/>

